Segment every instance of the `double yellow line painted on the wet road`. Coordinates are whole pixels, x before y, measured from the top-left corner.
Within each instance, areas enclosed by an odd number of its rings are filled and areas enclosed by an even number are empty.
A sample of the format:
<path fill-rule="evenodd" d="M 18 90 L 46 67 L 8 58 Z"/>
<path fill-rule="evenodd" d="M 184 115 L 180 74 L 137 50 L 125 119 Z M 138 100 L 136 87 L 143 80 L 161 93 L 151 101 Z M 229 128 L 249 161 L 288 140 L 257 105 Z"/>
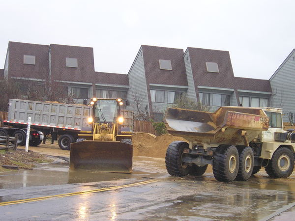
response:
<path fill-rule="evenodd" d="M 117 189 L 122 189 L 122 188 L 126 188 L 126 187 L 140 186 L 140 185 L 154 183 L 154 182 L 158 182 L 158 180 L 149 180 L 149 181 L 131 183 L 131 184 L 126 184 L 126 185 L 121 185 L 121 186 L 114 186 L 114 187 L 108 187 L 108 188 L 95 189 L 95 190 L 90 190 L 90 191 L 64 193 L 64 194 L 48 195 L 48 196 L 42 196 L 42 197 L 36 197 L 36 198 L 30 198 L 30 199 L 20 199 L 20 200 L 14 200 L 14 201 L 7 201 L 7 202 L 1 202 L 0 206 L 7 206 L 7 205 L 26 203 L 26 202 L 34 202 L 34 201 L 40 201 L 40 200 L 45 200 L 45 199 L 49 199 L 49 198 L 58 198 L 58 197 L 80 195 L 80 194 L 86 194 L 86 193 L 97 193 L 97 192 L 111 191 L 111 190 L 117 190 Z"/>

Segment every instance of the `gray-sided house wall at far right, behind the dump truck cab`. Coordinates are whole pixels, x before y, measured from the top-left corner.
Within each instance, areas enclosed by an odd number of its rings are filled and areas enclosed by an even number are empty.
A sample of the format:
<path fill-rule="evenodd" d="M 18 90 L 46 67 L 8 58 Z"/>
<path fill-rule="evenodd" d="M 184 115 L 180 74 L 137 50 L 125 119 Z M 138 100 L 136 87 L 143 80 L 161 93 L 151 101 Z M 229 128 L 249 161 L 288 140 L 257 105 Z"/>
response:
<path fill-rule="evenodd" d="M 270 79 L 272 97 L 270 106 L 282 108 L 284 113 L 295 112 L 295 52 L 291 53 L 277 73 Z M 284 116 L 288 121 L 288 116 Z"/>

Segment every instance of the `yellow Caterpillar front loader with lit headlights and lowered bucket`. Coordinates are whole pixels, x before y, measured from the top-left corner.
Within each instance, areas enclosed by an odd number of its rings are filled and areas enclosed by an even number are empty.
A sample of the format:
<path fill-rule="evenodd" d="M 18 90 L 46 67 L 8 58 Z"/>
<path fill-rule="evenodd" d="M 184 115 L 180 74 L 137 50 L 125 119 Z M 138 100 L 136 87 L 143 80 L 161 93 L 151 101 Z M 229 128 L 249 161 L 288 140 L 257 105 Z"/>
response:
<path fill-rule="evenodd" d="M 132 132 L 122 126 L 122 99 L 93 98 L 90 105 L 92 133 L 80 134 L 77 142 L 71 143 L 70 169 L 131 173 Z"/>

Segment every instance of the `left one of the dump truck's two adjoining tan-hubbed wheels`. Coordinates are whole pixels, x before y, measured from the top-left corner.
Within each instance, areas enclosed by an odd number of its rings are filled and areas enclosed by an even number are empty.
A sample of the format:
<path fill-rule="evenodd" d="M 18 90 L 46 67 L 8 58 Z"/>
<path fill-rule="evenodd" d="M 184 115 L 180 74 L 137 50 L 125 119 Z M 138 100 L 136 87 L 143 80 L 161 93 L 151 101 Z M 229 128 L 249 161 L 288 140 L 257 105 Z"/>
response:
<path fill-rule="evenodd" d="M 232 182 L 238 172 L 238 152 L 236 146 L 220 145 L 213 157 L 213 174 L 216 180 Z"/>

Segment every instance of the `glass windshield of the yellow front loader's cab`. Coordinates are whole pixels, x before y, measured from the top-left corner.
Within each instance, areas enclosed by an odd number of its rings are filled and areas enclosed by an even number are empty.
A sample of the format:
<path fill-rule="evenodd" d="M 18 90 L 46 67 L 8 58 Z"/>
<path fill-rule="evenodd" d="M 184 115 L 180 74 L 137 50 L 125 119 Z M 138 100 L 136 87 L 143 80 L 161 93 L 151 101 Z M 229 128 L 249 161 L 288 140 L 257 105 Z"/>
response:
<path fill-rule="evenodd" d="M 116 100 L 98 100 L 95 104 L 94 122 L 113 122 L 117 117 L 117 101 Z"/>

